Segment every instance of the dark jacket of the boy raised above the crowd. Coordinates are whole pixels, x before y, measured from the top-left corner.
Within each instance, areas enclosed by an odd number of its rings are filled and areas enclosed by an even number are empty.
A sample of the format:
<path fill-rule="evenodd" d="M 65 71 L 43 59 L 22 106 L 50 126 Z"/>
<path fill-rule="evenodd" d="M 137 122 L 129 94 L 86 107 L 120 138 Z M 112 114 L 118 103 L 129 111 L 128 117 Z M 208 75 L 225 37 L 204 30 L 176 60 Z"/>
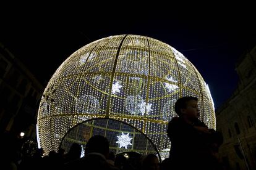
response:
<path fill-rule="evenodd" d="M 207 127 L 200 120 L 194 126 Z M 211 154 L 211 144 L 215 142 L 216 131 L 210 134 L 198 131 L 182 118 L 173 118 L 168 124 L 171 140 L 170 161 L 173 169 L 215 169 L 215 158 Z M 211 168 L 212 167 L 212 168 Z"/>

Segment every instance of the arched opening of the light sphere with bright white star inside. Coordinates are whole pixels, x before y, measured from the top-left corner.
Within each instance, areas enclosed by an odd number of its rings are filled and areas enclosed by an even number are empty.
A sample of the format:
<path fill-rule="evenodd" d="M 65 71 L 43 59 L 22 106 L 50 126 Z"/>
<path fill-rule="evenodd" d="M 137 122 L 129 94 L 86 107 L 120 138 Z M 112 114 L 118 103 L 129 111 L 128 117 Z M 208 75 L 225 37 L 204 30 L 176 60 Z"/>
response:
<path fill-rule="evenodd" d="M 109 118 L 95 118 L 77 124 L 62 138 L 60 146 L 68 152 L 71 145 L 76 142 L 82 146 L 81 156 L 83 156 L 88 140 L 95 135 L 105 136 L 108 139 L 109 152 L 132 151 L 142 155 L 152 153 L 159 156 L 155 145 L 145 134 L 127 123 Z"/>

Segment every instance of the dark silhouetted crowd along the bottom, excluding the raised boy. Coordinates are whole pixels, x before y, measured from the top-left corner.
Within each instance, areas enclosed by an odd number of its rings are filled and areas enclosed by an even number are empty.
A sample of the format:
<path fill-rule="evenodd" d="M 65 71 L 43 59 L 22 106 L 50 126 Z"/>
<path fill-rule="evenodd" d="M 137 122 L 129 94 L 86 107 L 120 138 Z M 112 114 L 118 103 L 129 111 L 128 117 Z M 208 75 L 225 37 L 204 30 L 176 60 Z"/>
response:
<path fill-rule="evenodd" d="M 43 148 L 39 148 L 32 156 L 28 156 L 22 155 L 19 149 L 21 146 L 14 137 L 4 137 L 5 140 L 2 141 L 6 142 L 1 145 L 1 169 L 160 169 L 160 161 L 154 154 L 127 159 L 122 154 L 109 153 L 109 142 L 103 136 L 93 136 L 88 140 L 85 156 L 82 158 L 82 147 L 77 143 L 72 144 L 67 153 L 60 148 L 58 152 L 51 151 L 43 156 Z"/>

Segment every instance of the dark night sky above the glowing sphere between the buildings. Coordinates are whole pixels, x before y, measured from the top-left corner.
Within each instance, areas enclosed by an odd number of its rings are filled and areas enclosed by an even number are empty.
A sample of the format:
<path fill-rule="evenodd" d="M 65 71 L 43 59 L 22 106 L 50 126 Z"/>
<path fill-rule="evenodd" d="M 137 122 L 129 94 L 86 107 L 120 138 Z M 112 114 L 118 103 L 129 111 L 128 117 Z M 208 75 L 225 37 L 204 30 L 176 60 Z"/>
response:
<path fill-rule="evenodd" d="M 70 54 L 96 39 L 149 36 L 182 52 L 209 85 L 215 108 L 220 107 L 236 89 L 238 57 L 256 44 L 255 9 L 250 4 L 162 6 L 8 8 L 0 42 L 43 83 Z"/>

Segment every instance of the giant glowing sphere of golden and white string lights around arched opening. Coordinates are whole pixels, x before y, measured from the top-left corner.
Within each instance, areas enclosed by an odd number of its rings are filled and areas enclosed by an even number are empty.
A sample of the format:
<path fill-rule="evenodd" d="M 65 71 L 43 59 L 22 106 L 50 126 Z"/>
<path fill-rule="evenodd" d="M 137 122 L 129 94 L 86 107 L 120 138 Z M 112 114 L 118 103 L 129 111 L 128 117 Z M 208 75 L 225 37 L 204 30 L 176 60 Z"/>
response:
<path fill-rule="evenodd" d="M 198 97 L 200 119 L 215 129 L 208 86 L 184 55 L 145 36 L 99 39 L 70 55 L 50 79 L 38 110 L 38 145 L 46 154 L 58 150 L 72 127 L 87 121 L 91 127 L 93 119 L 109 118 L 147 136 L 164 157 L 171 145 L 166 135 L 168 121 L 177 116 L 173 105 L 188 95 Z M 106 125 L 101 129 L 105 136 L 111 130 Z M 109 140 L 116 140 L 110 142 L 116 152 L 124 149 L 119 137 L 126 136 L 129 145 L 137 140 L 122 132 L 121 125 L 115 135 Z"/>

